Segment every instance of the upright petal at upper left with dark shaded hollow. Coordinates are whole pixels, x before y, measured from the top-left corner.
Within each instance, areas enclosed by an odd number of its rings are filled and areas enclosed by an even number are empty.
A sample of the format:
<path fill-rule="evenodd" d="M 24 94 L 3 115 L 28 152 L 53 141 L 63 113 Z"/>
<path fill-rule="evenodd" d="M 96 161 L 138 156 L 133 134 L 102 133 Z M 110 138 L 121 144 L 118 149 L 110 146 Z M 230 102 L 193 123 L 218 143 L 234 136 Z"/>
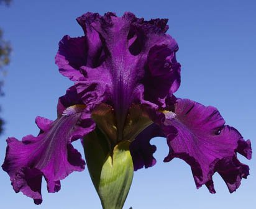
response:
<path fill-rule="evenodd" d="M 76 20 L 83 27 L 85 36 L 70 38 L 65 35 L 59 43 L 55 63 L 60 73 L 71 81 L 85 81 L 86 75 L 81 72 L 81 68 L 96 68 L 103 62 L 103 45 L 99 33 L 91 26 L 91 22 L 96 21 L 98 16 L 88 12 L 78 17 Z"/>

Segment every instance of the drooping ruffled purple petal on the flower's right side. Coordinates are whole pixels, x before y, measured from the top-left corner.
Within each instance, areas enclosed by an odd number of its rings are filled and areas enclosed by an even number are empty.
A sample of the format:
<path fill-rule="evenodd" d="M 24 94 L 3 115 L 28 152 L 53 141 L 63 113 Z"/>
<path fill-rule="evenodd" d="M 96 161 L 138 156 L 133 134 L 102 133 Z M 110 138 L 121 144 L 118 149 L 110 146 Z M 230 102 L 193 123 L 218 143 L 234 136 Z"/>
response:
<path fill-rule="evenodd" d="M 166 118 L 162 129 L 167 136 L 170 153 L 165 162 L 181 158 L 190 164 L 197 187 L 206 184 L 214 193 L 212 176 L 218 172 L 230 192 L 249 175 L 249 167 L 240 163 L 236 153 L 252 156 L 250 141 L 244 141 L 235 128 L 214 107 L 205 107 L 188 99 L 178 99 L 175 118 Z"/>

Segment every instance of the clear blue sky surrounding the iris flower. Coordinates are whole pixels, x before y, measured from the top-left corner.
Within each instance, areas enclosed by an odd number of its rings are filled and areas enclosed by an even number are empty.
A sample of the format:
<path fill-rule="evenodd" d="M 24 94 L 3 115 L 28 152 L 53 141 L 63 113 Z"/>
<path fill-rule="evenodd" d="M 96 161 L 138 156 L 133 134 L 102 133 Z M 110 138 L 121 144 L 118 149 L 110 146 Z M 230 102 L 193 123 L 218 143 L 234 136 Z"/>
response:
<path fill-rule="evenodd" d="M 177 59 L 182 65 L 181 87 L 176 96 L 214 105 L 227 124 L 252 140 L 256 152 L 256 1 L 18 1 L 0 8 L 0 27 L 11 40 L 11 64 L 1 97 L 1 117 L 6 120 L 0 138 L 0 162 L 4 160 L 7 136 L 21 139 L 37 135 L 37 115 L 56 118 L 59 96 L 72 82 L 58 73 L 54 63 L 58 41 L 63 35 L 83 35 L 75 18 L 92 11 L 134 12 L 145 19 L 169 19 L 170 33 L 178 42 Z M 249 164 L 249 179 L 230 194 L 221 177 L 214 176 L 217 193 L 206 187 L 197 190 L 190 167 L 180 159 L 163 163 L 168 153 L 164 138 L 155 138 L 157 165 L 135 172 L 124 209 L 255 209 L 255 158 Z M 81 153 L 81 145 L 75 143 Z M 99 209 L 100 203 L 88 171 L 75 172 L 62 180 L 58 193 L 47 193 L 43 203 L 16 194 L 9 176 L 0 170 L 0 207 L 4 209 L 57 208 Z"/>

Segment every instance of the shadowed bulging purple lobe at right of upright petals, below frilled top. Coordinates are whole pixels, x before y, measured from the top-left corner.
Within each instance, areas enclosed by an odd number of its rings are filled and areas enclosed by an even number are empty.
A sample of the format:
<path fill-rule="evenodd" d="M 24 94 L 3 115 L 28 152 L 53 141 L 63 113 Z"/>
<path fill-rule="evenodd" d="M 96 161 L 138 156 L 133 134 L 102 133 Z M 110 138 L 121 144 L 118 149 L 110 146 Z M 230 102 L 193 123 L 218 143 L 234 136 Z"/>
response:
<path fill-rule="evenodd" d="M 157 102 L 173 94 L 180 87 L 180 63 L 176 61 L 176 48 L 155 45 L 149 51 L 148 69 L 145 78 L 145 98 Z"/>

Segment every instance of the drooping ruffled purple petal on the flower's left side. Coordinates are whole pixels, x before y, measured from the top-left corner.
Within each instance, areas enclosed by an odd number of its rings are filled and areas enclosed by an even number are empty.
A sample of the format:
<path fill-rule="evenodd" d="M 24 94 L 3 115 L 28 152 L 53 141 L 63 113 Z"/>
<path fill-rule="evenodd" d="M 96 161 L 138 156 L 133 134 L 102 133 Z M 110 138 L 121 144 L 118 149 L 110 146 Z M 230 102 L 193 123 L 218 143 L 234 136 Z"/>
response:
<path fill-rule="evenodd" d="M 41 128 L 38 136 L 28 135 L 22 141 L 7 139 L 2 169 L 9 174 L 16 192 L 21 191 L 40 204 L 42 176 L 47 181 L 48 192 L 58 192 L 60 180 L 73 171 L 85 169 L 85 161 L 71 141 L 94 130 L 94 123 L 81 114 L 63 115 L 53 122 L 37 117 Z"/>

